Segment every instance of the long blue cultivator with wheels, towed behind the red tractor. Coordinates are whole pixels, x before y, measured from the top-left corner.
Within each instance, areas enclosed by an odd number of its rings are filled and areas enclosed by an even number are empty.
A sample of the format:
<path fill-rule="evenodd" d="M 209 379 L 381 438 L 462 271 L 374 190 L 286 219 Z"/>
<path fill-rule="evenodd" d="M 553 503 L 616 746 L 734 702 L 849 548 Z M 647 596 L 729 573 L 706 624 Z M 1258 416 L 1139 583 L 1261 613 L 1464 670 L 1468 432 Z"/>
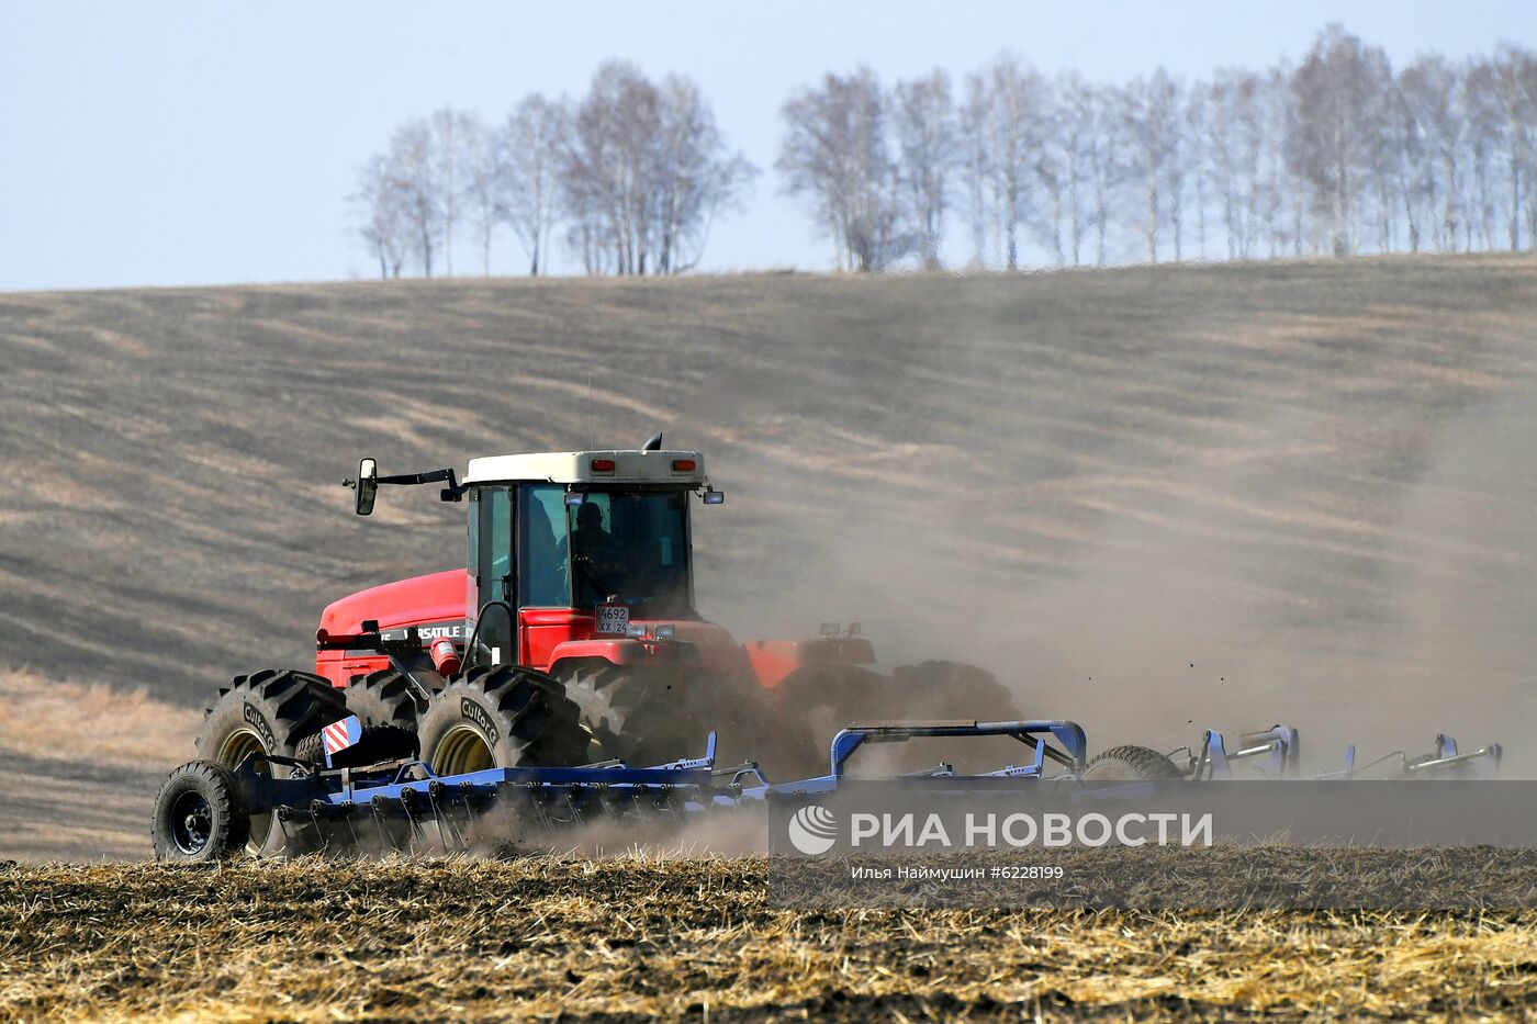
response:
<path fill-rule="evenodd" d="M 659 835 L 666 835 L 670 823 L 710 812 L 752 807 L 779 795 L 833 793 L 850 778 L 850 758 L 870 744 L 982 736 L 1017 740 L 1027 756 L 981 773 L 958 773 L 939 764 L 898 776 L 901 784 L 1007 793 L 1042 780 L 1062 786 L 1136 778 L 1202 781 L 1233 778 L 1237 763 L 1259 766 L 1256 773 L 1262 776 L 1297 778 L 1297 732 L 1280 726 L 1237 736 L 1233 750 L 1222 733 L 1207 732 L 1199 753 L 1179 767 L 1140 747 L 1116 747 L 1090 758 L 1084 730 L 1070 721 L 856 723 L 833 738 L 827 775 L 788 783 L 770 783 L 753 763 L 716 767 L 715 733 L 704 756 L 653 767 L 606 761 L 433 775 L 418 760 L 329 767 L 329 753 L 324 763 L 251 753 L 234 772 L 212 761 L 192 761 L 171 773 L 155 807 L 155 853 L 160 859 L 201 861 L 241 849 L 269 856 L 549 849 L 555 836 L 596 823 L 661 823 Z M 1342 772 L 1313 778 L 1466 776 L 1491 772 L 1499 758 L 1499 746 L 1459 753 L 1454 740 L 1437 736 L 1431 755 L 1396 753 L 1357 769 L 1351 749 Z M 638 833 L 621 827 L 618 835 Z"/>

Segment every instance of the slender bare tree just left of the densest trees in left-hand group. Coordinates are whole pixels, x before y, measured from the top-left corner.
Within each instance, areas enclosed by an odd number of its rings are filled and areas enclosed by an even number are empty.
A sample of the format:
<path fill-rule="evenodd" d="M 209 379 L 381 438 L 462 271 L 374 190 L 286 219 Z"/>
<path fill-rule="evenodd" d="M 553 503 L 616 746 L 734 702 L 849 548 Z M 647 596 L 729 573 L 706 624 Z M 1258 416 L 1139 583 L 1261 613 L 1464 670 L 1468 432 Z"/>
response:
<path fill-rule="evenodd" d="M 526 95 L 498 138 L 500 214 L 529 255 L 529 275 L 538 277 L 549 249 L 559 198 L 558 169 L 570 137 L 570 112 L 543 94 Z"/>

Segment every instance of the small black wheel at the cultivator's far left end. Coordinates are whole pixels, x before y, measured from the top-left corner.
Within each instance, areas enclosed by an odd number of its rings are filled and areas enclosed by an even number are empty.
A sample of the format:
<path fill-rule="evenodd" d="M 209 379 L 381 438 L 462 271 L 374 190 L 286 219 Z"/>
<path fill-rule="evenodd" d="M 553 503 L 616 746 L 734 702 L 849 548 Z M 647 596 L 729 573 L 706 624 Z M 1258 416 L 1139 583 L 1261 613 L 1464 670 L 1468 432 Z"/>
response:
<path fill-rule="evenodd" d="M 246 847 L 251 815 L 235 776 L 214 761 L 189 761 L 155 796 L 157 861 L 221 861 Z"/>

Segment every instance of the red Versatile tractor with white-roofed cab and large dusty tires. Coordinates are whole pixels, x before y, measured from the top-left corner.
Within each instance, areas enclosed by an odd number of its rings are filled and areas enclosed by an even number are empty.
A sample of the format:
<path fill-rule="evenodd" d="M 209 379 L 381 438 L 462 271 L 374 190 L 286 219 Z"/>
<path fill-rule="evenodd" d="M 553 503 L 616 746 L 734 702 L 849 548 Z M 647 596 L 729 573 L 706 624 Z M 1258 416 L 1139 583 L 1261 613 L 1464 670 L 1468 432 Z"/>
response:
<path fill-rule="evenodd" d="M 816 764 L 812 721 L 1017 716 L 991 675 L 954 663 L 868 667 L 858 629 L 738 644 L 695 606 L 690 506 L 721 504 L 699 452 L 553 452 L 380 477 L 360 463 L 357 512 L 381 484 L 441 484 L 469 504 L 466 569 L 389 583 L 321 613 L 315 673 L 266 670 L 221 690 L 198 736 L 234 767 L 306 756 L 323 726 L 369 726 L 352 756 L 437 773 L 624 758 L 652 764 L 716 730 L 730 756 Z M 824 723 L 825 724 L 825 723 Z M 314 755 L 314 750 L 307 752 Z M 375 758 L 377 760 L 377 758 Z"/>

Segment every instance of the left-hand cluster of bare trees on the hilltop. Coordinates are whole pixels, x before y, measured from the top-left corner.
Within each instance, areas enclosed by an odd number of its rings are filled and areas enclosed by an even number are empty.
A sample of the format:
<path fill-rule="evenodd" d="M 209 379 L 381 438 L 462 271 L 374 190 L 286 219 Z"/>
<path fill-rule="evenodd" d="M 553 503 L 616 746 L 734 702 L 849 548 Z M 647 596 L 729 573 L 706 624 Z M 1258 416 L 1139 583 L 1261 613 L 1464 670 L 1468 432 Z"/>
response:
<path fill-rule="evenodd" d="M 407 266 L 452 277 L 466 234 L 490 274 L 503 228 L 532 275 L 561 231 L 589 274 L 679 274 L 755 174 L 727 149 L 698 85 L 610 60 L 578 101 L 535 92 L 501 125 L 453 109 L 406 121 L 358 171 L 352 200 L 381 277 Z"/>

